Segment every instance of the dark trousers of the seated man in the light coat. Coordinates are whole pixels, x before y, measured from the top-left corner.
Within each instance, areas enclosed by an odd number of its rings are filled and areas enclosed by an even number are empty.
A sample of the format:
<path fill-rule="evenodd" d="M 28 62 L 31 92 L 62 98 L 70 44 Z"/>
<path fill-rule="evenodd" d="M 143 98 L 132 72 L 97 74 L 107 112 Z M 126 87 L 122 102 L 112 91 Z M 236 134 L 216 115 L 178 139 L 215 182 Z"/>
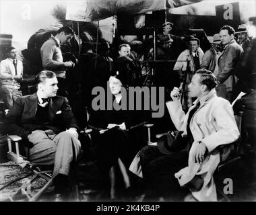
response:
<path fill-rule="evenodd" d="M 146 181 L 148 200 L 160 196 L 171 200 L 183 200 L 189 192 L 179 185 L 174 174 L 187 167 L 188 158 L 188 151 L 163 155 L 157 146 L 145 146 L 141 149 L 141 168 Z"/>

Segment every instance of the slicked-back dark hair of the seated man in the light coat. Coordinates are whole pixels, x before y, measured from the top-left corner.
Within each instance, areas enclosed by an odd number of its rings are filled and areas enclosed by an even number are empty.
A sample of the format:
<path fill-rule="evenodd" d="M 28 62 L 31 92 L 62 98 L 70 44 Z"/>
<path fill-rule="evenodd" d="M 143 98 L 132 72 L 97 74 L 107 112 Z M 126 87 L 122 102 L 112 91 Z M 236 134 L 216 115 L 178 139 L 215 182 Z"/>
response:
<path fill-rule="evenodd" d="M 207 69 L 199 69 L 195 72 L 195 74 L 200 75 L 200 83 L 202 85 L 206 85 L 209 91 L 211 89 L 214 89 L 218 84 L 217 78 L 214 73 Z"/>

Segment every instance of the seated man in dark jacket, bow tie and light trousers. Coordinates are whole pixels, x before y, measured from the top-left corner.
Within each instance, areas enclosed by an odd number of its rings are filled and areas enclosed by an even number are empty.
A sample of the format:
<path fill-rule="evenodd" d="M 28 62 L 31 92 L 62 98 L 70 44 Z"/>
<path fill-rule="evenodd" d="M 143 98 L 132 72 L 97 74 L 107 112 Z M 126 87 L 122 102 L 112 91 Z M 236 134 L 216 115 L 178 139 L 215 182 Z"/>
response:
<path fill-rule="evenodd" d="M 36 76 L 37 92 L 18 98 L 5 117 L 4 134 L 29 142 L 30 161 L 54 165 L 53 182 L 58 196 L 67 193 L 71 164 L 79 155 L 79 129 L 67 98 L 57 96 L 57 77 L 51 71 Z M 59 195 L 60 194 L 60 195 Z"/>

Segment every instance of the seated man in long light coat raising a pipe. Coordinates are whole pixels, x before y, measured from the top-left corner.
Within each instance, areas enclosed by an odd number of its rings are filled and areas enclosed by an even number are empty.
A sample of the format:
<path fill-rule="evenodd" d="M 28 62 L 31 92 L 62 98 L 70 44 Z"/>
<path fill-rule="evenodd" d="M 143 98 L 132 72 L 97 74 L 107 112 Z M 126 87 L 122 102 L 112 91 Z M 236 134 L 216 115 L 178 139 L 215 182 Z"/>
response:
<path fill-rule="evenodd" d="M 187 194 L 190 190 L 195 200 L 217 200 L 213 174 L 220 158 L 224 160 L 230 153 L 230 148 L 226 147 L 226 155 L 220 155 L 218 146 L 234 142 L 239 132 L 232 107 L 226 99 L 216 95 L 216 85 L 212 72 L 196 71 L 189 84 L 189 94 L 197 99 L 187 114 L 181 107 L 180 90 L 174 87 L 170 93 L 172 101 L 166 105 L 172 122 L 190 141 L 183 150 L 169 155 L 162 154 L 156 146 L 141 149 L 143 177 L 154 195 L 184 197 L 179 193 Z M 181 189 L 181 186 L 189 189 Z"/>

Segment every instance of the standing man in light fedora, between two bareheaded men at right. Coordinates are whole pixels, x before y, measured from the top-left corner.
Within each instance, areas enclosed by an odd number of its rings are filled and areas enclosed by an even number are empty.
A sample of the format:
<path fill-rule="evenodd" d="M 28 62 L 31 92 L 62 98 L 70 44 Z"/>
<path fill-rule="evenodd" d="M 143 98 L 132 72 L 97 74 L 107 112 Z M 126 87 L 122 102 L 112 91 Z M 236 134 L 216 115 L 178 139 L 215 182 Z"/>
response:
<path fill-rule="evenodd" d="M 214 75 L 217 75 L 218 58 L 221 54 L 220 34 L 214 34 L 214 36 L 210 38 L 210 43 L 212 44 L 212 47 L 203 54 L 200 68 L 210 70 Z"/>

